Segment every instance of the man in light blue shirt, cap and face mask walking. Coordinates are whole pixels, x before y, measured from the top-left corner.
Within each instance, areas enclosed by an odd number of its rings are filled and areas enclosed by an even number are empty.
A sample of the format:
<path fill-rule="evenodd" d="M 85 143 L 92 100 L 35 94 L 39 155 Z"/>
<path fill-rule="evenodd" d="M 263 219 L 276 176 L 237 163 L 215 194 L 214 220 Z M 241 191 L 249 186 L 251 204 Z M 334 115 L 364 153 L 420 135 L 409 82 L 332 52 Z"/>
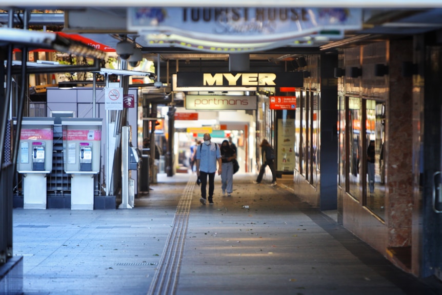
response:
<path fill-rule="evenodd" d="M 206 205 L 207 176 L 209 176 L 209 204 L 213 205 L 213 191 L 215 190 L 216 162 L 218 162 L 218 175 L 221 175 L 221 152 L 217 143 L 210 141 L 209 133 L 203 136 L 204 143 L 196 148 L 196 175 L 201 180 L 201 198 L 199 202 Z"/>

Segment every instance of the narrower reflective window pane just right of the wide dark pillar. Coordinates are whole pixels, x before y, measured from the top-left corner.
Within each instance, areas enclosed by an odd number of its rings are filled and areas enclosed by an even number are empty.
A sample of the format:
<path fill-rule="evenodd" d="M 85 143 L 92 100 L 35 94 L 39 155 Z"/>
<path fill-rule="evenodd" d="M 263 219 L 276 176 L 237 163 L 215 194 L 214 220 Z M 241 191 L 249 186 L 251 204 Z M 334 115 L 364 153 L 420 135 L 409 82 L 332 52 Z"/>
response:
<path fill-rule="evenodd" d="M 360 175 L 360 102 L 358 98 L 349 97 L 349 155 L 348 165 L 350 175 L 349 193 L 356 200 L 360 200 L 359 175 Z"/>

